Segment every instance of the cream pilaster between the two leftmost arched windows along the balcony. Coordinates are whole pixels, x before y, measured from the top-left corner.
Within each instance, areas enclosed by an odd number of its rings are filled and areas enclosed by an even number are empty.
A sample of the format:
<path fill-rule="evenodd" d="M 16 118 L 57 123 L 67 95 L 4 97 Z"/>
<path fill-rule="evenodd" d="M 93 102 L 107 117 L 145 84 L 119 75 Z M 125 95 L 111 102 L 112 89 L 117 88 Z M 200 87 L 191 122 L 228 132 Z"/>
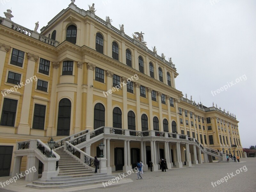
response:
<path fill-rule="evenodd" d="M 111 49 L 112 50 L 112 49 Z M 107 74 L 107 91 L 112 89 L 112 78 L 114 73 L 106 71 Z M 107 126 L 113 127 L 113 109 L 112 109 L 112 94 L 107 95 Z"/>

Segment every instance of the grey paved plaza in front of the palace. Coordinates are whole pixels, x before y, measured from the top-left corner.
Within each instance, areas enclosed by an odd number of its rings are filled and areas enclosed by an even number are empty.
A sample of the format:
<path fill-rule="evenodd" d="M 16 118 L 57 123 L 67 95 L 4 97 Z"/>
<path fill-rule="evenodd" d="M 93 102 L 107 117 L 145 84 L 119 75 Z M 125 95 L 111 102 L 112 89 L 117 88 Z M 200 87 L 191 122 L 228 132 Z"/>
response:
<path fill-rule="evenodd" d="M 113 174 L 118 176 L 122 173 L 113 172 Z M 127 176 L 120 179 L 117 185 L 115 182 L 105 188 L 102 184 L 97 184 L 75 188 L 40 190 L 25 187 L 28 182 L 20 179 L 17 183 L 10 183 L 4 188 L 0 186 L 0 192 L 256 192 L 256 158 L 243 158 L 240 163 L 231 160 L 229 163 L 198 164 L 192 167 L 174 168 L 166 170 L 166 172 L 144 170 L 144 174 L 141 174 L 143 177 L 141 180 L 136 180 L 137 174 L 135 172 L 130 175 L 125 173 L 124 175 Z M 120 177 L 123 178 L 123 176 Z M 0 181 L 3 182 L 9 178 L 0 177 Z"/>

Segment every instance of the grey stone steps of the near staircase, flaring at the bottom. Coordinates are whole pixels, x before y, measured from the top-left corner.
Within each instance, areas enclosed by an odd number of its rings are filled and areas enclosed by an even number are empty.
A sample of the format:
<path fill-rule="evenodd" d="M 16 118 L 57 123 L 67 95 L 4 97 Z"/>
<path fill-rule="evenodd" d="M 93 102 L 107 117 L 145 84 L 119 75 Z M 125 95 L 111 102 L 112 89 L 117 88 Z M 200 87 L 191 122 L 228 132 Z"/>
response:
<path fill-rule="evenodd" d="M 107 173 L 94 173 L 93 168 L 86 167 L 63 148 L 57 149 L 55 152 L 60 155 L 58 176 L 52 177 L 50 180 L 32 181 L 26 185 L 27 187 L 38 189 L 69 188 L 98 184 L 114 178 Z"/>

